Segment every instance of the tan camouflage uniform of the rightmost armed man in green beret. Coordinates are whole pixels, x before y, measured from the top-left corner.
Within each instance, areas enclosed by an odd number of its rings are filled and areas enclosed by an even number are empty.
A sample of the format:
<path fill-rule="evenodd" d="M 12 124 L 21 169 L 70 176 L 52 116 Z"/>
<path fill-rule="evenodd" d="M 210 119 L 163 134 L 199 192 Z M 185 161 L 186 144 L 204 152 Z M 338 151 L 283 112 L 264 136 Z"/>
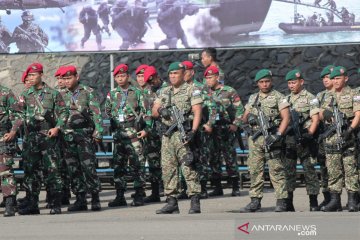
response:
<path fill-rule="evenodd" d="M 332 92 L 324 100 L 322 109 L 332 111 L 335 101 L 339 111 L 344 113 L 345 121 L 349 124 L 356 111 L 360 111 L 360 95 L 346 86 L 338 94 Z M 355 136 L 351 135 L 340 151 L 334 148 L 337 135 L 325 139 L 326 166 L 329 174 L 329 190 L 332 193 L 341 193 L 345 184 L 348 192 L 359 191 L 359 175 L 357 160 L 355 159 Z"/>

